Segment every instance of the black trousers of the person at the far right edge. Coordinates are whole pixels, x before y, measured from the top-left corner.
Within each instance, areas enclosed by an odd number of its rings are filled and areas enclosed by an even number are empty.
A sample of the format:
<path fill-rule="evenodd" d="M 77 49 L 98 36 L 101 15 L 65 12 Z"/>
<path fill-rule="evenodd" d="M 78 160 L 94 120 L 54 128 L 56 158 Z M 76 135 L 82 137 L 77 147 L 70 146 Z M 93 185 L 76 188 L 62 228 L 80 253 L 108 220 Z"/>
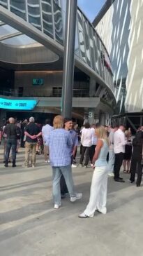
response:
<path fill-rule="evenodd" d="M 131 160 L 130 164 L 130 181 L 135 182 L 135 173 L 137 172 L 137 185 L 140 185 L 142 182 L 142 165 L 141 165 L 141 159 L 133 159 Z"/>

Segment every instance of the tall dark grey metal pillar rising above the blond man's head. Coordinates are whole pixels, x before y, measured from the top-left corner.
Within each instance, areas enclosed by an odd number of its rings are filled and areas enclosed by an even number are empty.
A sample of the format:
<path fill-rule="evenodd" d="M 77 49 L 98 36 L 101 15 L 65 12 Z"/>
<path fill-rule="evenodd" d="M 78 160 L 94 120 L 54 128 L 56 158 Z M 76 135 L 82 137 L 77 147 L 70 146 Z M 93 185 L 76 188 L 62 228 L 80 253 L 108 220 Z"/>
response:
<path fill-rule="evenodd" d="M 61 107 L 63 117 L 71 117 L 72 112 L 76 17 L 77 0 L 68 0 L 66 4 L 66 34 L 63 57 L 63 88 Z"/>

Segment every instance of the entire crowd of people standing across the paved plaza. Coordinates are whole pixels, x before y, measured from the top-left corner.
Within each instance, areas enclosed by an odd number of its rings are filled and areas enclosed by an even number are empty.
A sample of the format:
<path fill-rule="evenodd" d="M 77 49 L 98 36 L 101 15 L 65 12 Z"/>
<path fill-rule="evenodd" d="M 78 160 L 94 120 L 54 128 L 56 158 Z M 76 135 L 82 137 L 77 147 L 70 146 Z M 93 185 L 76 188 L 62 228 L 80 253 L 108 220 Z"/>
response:
<path fill-rule="evenodd" d="M 101 126 L 100 123 L 84 123 L 79 129 L 72 119 L 63 119 L 62 116 L 54 117 L 53 126 L 48 119 L 41 126 L 33 116 L 21 123 L 10 117 L 1 129 L 0 139 L 3 139 L 3 162 L 6 168 L 10 151 L 12 166 L 16 167 L 20 146 L 25 148 L 24 168 L 34 168 L 36 154 L 44 155 L 45 163 L 52 166 L 55 209 L 59 209 L 61 198 L 67 194 L 71 202 L 82 198 L 82 193 L 75 191 L 72 175 L 72 168 L 77 167 L 76 155 L 80 146 L 79 166 L 87 168 L 90 161 L 90 167 L 93 168 L 89 203 L 79 215 L 81 218 L 93 217 L 96 210 L 107 213 L 107 176 L 114 177 L 115 182 L 125 182 L 120 176 L 122 165 L 123 173 L 130 173 L 131 183 L 135 182 L 135 173 L 137 187 L 142 181 L 143 127 L 133 137 L 130 128 L 126 130 L 123 124 Z"/>

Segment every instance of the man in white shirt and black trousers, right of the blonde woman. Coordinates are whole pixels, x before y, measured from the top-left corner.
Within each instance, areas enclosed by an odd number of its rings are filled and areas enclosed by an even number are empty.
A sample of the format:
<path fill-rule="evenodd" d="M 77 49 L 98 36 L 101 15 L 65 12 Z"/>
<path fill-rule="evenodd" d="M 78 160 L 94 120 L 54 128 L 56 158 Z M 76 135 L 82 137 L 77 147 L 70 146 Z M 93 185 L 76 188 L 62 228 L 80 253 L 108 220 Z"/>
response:
<path fill-rule="evenodd" d="M 126 138 L 124 135 L 125 126 L 122 124 L 119 129 L 114 133 L 114 180 L 116 182 L 125 182 L 120 176 L 120 168 L 123 162 L 123 154 L 125 153 Z"/>

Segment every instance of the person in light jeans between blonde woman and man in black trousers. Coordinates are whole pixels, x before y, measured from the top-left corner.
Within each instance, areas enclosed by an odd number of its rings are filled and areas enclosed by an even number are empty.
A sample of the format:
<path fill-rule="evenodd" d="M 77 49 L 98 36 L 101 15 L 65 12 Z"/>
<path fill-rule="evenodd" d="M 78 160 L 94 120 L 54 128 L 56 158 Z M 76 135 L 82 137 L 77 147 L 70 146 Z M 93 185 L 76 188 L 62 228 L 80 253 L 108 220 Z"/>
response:
<path fill-rule="evenodd" d="M 118 130 L 118 126 L 112 125 L 110 130 L 110 135 L 108 137 L 110 142 L 110 149 L 109 149 L 109 161 L 108 161 L 108 169 L 109 169 L 109 176 L 114 177 L 114 133 Z"/>

